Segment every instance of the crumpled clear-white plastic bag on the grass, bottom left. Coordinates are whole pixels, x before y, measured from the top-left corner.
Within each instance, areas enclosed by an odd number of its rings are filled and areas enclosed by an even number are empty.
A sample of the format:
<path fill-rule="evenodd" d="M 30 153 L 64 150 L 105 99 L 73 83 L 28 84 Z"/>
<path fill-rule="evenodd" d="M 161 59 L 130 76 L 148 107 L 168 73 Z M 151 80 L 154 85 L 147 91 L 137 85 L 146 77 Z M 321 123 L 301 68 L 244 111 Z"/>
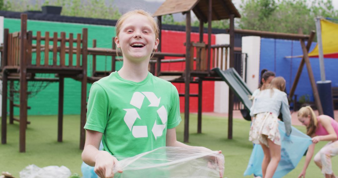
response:
<path fill-rule="evenodd" d="M 65 166 L 47 166 L 39 168 L 36 165 L 29 165 L 20 171 L 20 178 L 68 178 L 70 170 Z"/>

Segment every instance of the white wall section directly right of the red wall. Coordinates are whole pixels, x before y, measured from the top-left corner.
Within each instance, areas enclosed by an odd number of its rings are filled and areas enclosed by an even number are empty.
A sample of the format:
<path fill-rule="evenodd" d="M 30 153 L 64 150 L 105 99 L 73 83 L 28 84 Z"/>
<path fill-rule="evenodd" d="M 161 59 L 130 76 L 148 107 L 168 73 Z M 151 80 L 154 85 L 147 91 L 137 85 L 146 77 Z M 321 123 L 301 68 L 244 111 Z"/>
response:
<path fill-rule="evenodd" d="M 229 44 L 229 41 L 230 41 L 229 34 L 216 34 L 216 44 Z M 225 55 L 225 53 L 223 53 L 223 55 Z M 229 64 L 227 64 L 227 66 L 229 66 Z M 223 81 L 216 81 L 214 95 L 214 112 L 227 113 L 229 109 L 228 107 L 229 107 L 229 87 Z"/>

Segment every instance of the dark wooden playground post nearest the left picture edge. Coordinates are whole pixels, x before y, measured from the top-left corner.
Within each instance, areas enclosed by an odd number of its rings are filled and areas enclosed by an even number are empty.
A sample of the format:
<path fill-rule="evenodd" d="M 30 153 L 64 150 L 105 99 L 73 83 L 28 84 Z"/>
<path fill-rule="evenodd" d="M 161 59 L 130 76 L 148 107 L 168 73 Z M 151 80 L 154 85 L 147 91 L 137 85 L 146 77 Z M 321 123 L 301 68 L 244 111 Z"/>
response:
<path fill-rule="evenodd" d="M 8 29 L 3 32 L 3 52 L 1 60 L 1 68 L 7 65 L 7 50 L 8 50 Z M 1 144 L 7 142 L 7 71 L 2 72 L 2 98 L 1 98 Z"/>

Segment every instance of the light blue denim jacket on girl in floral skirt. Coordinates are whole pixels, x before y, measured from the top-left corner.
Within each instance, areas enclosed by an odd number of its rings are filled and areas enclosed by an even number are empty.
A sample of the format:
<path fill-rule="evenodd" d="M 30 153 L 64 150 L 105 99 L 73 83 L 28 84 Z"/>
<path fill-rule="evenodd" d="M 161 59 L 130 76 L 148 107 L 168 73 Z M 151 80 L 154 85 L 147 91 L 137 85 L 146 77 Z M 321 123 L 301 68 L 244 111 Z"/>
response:
<path fill-rule="evenodd" d="M 276 116 L 282 113 L 286 134 L 290 135 L 291 114 L 286 93 L 275 88 L 260 91 L 252 102 L 250 116 L 253 117 L 255 114 L 264 112 L 271 112 Z"/>

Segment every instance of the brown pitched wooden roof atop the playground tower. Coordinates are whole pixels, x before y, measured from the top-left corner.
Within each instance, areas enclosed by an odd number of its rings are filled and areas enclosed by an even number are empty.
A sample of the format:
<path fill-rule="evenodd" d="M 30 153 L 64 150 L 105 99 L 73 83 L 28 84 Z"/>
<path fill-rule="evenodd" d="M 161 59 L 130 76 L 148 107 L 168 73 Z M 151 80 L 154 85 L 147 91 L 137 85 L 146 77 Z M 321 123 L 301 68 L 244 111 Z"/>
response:
<path fill-rule="evenodd" d="M 198 19 L 208 22 L 208 6 L 209 0 L 166 0 L 153 15 L 163 16 L 193 10 Z M 230 14 L 235 14 L 235 18 L 241 17 L 231 0 L 212 1 L 212 20 L 229 19 Z"/>

